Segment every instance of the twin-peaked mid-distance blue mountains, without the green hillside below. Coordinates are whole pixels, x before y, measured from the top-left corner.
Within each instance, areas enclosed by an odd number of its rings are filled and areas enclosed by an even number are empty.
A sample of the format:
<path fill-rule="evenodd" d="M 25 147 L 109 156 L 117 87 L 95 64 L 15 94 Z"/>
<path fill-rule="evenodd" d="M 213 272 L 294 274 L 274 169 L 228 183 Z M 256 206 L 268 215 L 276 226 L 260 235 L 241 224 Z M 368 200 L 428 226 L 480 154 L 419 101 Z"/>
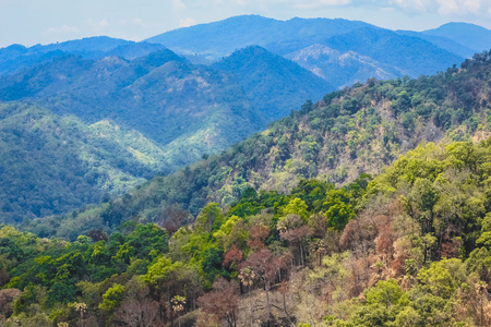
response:
<path fill-rule="evenodd" d="M 164 146 L 176 170 L 333 90 L 298 64 L 265 50 L 256 55 L 242 51 L 214 68 L 167 49 L 133 60 L 68 55 L 0 77 L 0 99 L 135 129 Z"/>

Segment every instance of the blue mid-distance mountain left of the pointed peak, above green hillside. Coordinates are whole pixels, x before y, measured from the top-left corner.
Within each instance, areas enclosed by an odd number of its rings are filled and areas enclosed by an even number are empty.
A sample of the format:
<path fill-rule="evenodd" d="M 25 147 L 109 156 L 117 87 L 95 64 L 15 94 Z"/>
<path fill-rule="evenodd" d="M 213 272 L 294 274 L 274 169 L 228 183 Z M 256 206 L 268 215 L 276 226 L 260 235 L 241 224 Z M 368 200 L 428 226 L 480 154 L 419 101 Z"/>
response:
<path fill-rule="evenodd" d="M 65 56 L 0 78 L 0 94 L 1 100 L 35 101 L 89 123 L 110 119 L 168 147 L 181 138 L 184 164 L 264 124 L 228 74 L 169 50 L 131 61 Z M 169 164 L 183 165 L 180 160 Z"/>

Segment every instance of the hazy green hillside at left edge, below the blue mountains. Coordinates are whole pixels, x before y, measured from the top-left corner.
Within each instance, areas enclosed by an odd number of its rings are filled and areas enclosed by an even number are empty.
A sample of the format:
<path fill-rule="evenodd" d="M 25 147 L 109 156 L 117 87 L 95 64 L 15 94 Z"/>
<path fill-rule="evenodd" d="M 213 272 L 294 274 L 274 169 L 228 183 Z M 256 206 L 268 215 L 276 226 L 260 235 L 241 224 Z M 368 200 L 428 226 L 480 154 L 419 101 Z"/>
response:
<path fill-rule="evenodd" d="M 0 102 L 0 223 L 59 215 L 168 171 L 152 141 L 109 121 L 87 125 L 22 102 Z"/>

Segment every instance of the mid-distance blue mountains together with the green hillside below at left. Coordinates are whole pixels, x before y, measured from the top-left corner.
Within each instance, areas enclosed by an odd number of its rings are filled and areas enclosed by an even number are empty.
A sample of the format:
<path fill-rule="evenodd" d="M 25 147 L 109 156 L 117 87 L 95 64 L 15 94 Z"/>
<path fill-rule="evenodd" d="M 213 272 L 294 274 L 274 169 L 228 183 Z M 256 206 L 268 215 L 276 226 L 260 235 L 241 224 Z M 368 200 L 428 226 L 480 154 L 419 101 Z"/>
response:
<path fill-rule="evenodd" d="M 135 49 L 141 47 L 129 44 L 110 51 L 130 53 L 128 50 Z M 285 80 L 286 76 L 289 78 Z M 0 77 L 0 100 L 5 101 L 5 108 L 28 108 L 23 113 L 28 117 L 32 110 L 41 110 L 38 108 L 41 107 L 46 117 L 41 121 L 53 120 L 51 128 L 44 128 L 43 132 L 25 132 L 24 129 L 29 128 L 23 125 L 24 120 L 17 120 L 20 114 L 3 118 L 5 123 L 14 120 L 20 124 L 20 141 L 9 134 L 13 132 L 5 132 L 9 135 L 5 140 L 13 142 L 4 145 L 9 154 L 23 154 L 8 155 L 9 166 L 32 174 L 10 170 L 0 174 L 5 185 L 23 185 L 19 190 L 3 189 L 1 210 L 5 219 L 19 221 L 22 217 L 60 214 L 97 203 L 106 193 L 121 194 L 145 178 L 167 174 L 203 155 L 226 149 L 273 119 L 288 114 L 306 98 L 320 99 L 332 89 L 324 80 L 261 48 L 239 51 L 214 68 L 194 65 L 168 49 L 133 60 L 118 57 L 95 60 L 75 55 L 47 60 Z M 100 137 L 107 144 L 115 144 L 113 147 L 108 149 L 105 143 L 86 145 L 73 141 L 63 152 L 63 146 L 51 141 L 48 131 L 61 130 L 63 135 L 70 136 L 65 124 L 57 125 L 59 119 L 64 119 L 60 116 L 65 114 L 76 117 L 76 129 L 84 133 L 94 133 L 96 126 L 100 130 L 112 125 L 131 133 L 116 133 L 108 128 L 99 132 Z M 44 135 L 46 132 L 48 135 Z M 41 150 L 34 146 L 37 143 L 32 143 L 32 133 L 39 133 L 38 142 L 43 141 Z M 132 133 L 141 133 L 141 137 L 129 136 L 131 142 L 122 144 L 124 135 Z M 143 140 L 140 148 L 132 146 L 131 143 L 140 138 Z M 97 154 L 97 159 L 89 159 L 93 155 L 79 158 L 87 147 Z M 39 157 L 43 152 L 45 156 Z M 71 157 L 76 165 L 63 159 Z M 125 171 L 129 167 L 133 167 L 132 170 Z M 45 178 L 44 169 L 59 173 Z M 17 181 L 13 182 L 15 175 Z M 74 189 L 73 183 L 80 186 Z M 20 193 L 22 197 L 11 196 Z"/>

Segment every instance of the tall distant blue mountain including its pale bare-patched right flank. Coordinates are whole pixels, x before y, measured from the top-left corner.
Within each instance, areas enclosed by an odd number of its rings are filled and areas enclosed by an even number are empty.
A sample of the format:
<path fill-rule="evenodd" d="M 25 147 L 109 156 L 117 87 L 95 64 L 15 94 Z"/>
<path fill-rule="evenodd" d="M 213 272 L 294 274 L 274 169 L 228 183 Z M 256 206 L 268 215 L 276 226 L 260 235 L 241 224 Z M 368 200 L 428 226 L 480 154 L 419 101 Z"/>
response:
<path fill-rule="evenodd" d="M 179 28 L 146 41 L 209 60 L 219 60 L 248 46 L 260 46 L 288 59 L 297 58 L 297 63 L 335 87 L 349 85 L 361 76 L 433 74 L 459 64 L 472 53 L 472 49 L 447 38 L 394 32 L 358 21 L 298 17 L 277 21 L 258 15 Z M 323 61 L 315 63 L 319 47 L 335 52 L 327 58 L 323 51 Z"/>

